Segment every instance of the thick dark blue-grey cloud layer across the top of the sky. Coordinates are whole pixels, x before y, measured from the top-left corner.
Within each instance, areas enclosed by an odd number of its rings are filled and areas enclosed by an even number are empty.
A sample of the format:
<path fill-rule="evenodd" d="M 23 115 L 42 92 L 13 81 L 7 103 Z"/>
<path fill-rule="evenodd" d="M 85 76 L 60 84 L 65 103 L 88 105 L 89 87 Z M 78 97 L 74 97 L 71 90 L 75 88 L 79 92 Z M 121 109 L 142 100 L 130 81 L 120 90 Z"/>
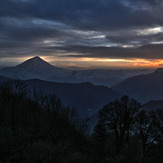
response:
<path fill-rule="evenodd" d="M 160 4 L 155 0 L 2 0 L 0 15 L 61 21 L 84 30 L 107 30 L 162 24 Z"/>

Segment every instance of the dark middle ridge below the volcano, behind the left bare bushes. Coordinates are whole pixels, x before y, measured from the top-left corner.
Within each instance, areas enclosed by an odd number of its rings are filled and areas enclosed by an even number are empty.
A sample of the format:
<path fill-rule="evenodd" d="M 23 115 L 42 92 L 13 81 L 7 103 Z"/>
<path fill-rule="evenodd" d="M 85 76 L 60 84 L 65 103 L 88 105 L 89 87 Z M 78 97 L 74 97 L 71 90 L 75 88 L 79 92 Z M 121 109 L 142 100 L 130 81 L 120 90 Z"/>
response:
<path fill-rule="evenodd" d="M 10 80 L 13 81 L 13 79 L 0 76 L 0 83 Z M 88 82 L 57 83 L 39 79 L 24 80 L 23 82 L 31 93 L 35 89 L 37 93 L 41 91 L 43 94 L 57 95 L 64 105 L 77 109 L 80 116 L 92 116 L 103 105 L 121 96 L 106 86 L 95 86 Z"/>

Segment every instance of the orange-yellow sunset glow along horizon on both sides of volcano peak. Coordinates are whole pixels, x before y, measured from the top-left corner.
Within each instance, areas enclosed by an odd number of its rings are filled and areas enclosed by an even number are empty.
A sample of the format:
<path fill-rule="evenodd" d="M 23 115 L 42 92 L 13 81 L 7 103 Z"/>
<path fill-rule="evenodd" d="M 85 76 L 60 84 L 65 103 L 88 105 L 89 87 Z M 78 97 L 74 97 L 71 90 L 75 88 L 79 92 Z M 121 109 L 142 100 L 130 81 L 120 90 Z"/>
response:
<path fill-rule="evenodd" d="M 3 62 L 21 63 L 31 57 L 4 58 Z M 41 56 L 41 58 L 58 67 L 80 67 L 80 68 L 158 68 L 163 67 L 163 59 L 124 59 L 124 58 L 82 58 L 82 57 L 60 57 Z"/>

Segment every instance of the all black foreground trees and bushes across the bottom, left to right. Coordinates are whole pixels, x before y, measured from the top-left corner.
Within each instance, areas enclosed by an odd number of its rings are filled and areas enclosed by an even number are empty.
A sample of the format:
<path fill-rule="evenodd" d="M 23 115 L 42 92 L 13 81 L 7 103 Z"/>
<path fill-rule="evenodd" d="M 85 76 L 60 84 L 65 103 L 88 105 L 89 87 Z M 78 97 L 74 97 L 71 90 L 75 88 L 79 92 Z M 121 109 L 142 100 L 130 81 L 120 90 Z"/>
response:
<path fill-rule="evenodd" d="M 0 87 L 0 162 L 162 161 L 163 110 L 143 111 L 123 96 L 99 111 L 88 134 L 86 121 L 57 96 L 31 95 L 19 81 Z"/>

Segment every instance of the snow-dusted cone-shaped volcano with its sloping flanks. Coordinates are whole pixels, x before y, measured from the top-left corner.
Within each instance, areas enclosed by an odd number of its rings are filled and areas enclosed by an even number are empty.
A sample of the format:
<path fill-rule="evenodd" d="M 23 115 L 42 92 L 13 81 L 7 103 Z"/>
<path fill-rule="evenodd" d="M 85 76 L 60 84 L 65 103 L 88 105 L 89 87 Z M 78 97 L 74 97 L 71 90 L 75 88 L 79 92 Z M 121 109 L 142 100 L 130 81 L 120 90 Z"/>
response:
<path fill-rule="evenodd" d="M 66 76 L 68 70 L 52 66 L 40 57 L 33 57 L 15 67 L 8 67 L 0 70 L 0 75 L 13 79 L 46 79 L 49 76 Z"/>

